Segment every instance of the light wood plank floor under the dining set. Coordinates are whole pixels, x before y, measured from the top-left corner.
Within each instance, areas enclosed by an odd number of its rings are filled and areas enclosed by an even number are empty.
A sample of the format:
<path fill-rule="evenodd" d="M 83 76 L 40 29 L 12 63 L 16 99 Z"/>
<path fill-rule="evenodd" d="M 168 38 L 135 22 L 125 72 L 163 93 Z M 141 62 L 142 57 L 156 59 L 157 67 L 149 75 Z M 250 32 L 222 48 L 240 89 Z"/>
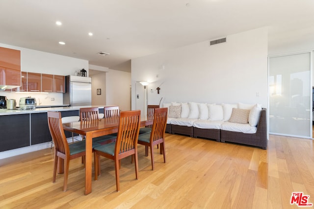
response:
<path fill-rule="evenodd" d="M 0 160 L 0 208 L 288 209 L 291 192 L 314 203 L 313 140 L 270 136 L 268 149 L 166 135 L 167 163 L 157 148 L 155 170 L 139 145 L 139 179 L 122 161 L 116 192 L 113 161 L 102 158 L 102 176 L 84 195 L 84 167 L 70 162 L 68 190 L 63 175 L 52 183 L 53 149 Z M 308 207 L 306 207 L 308 208 Z M 313 208 L 313 207 L 309 207 Z"/>

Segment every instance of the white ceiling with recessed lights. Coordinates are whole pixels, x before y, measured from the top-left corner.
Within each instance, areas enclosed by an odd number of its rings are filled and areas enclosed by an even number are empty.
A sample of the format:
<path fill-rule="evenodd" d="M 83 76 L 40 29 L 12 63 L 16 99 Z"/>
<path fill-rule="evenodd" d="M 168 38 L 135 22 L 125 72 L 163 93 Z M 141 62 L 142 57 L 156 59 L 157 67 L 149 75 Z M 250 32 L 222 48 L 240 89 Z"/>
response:
<path fill-rule="evenodd" d="M 314 0 L 0 0 L 0 43 L 114 70 L 130 71 L 133 58 L 264 26 L 269 54 L 313 49 Z"/>

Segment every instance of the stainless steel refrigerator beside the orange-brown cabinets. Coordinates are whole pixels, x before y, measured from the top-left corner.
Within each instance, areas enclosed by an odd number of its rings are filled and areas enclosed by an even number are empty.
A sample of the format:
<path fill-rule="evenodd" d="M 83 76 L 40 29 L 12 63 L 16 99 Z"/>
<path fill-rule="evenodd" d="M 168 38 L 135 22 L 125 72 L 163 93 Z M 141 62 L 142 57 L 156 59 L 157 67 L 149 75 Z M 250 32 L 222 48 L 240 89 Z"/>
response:
<path fill-rule="evenodd" d="M 74 75 L 65 76 L 63 104 L 69 104 L 70 106 L 92 105 L 92 78 Z"/>

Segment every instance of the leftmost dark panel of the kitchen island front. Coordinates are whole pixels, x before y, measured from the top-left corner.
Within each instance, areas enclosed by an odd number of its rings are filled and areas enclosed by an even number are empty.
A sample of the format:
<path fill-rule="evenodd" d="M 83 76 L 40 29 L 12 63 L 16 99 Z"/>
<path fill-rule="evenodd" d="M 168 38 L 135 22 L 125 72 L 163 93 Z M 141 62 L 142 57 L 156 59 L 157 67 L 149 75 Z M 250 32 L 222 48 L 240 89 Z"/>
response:
<path fill-rule="evenodd" d="M 0 116 L 0 152 L 29 146 L 29 115 Z"/>

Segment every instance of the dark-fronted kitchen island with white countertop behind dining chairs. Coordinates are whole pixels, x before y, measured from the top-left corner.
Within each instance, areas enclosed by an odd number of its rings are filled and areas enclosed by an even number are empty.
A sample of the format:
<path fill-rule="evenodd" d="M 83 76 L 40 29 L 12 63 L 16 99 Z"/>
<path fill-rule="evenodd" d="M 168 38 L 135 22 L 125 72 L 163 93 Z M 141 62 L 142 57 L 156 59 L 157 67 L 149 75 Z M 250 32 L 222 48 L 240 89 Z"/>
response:
<path fill-rule="evenodd" d="M 79 116 L 79 108 L 104 106 L 77 106 L 36 108 L 35 110 L 0 110 L 0 159 L 45 149 L 51 146 L 47 111 L 61 112 L 61 116 Z M 72 134 L 65 132 L 66 137 Z"/>

